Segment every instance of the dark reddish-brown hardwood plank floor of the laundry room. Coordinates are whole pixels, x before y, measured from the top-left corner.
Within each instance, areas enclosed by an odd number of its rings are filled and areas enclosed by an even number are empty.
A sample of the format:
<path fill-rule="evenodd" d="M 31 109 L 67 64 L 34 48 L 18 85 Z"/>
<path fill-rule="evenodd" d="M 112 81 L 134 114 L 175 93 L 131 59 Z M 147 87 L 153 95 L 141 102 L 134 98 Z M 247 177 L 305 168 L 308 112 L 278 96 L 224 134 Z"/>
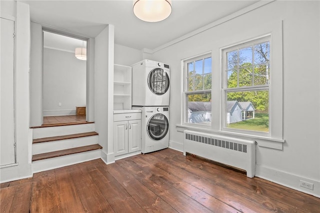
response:
<path fill-rule="evenodd" d="M 320 199 L 165 149 L 1 184 L 1 213 L 318 213 Z"/>

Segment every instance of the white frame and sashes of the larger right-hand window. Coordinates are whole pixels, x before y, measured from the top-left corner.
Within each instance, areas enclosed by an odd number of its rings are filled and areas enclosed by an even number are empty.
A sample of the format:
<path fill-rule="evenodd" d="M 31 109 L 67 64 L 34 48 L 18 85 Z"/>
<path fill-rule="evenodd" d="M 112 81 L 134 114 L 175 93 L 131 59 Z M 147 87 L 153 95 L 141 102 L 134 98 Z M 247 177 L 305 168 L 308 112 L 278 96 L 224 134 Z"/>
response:
<path fill-rule="evenodd" d="M 233 44 L 228 47 L 224 47 L 220 49 L 220 56 L 221 56 L 221 121 L 220 121 L 220 130 L 224 132 L 230 132 L 230 133 L 238 133 L 238 134 L 244 134 L 244 135 L 256 135 L 256 136 L 262 136 L 262 137 L 271 137 L 272 135 L 272 116 L 271 113 L 273 112 L 274 109 L 271 106 L 271 89 L 272 89 L 272 80 L 273 80 L 273 72 L 275 72 L 271 68 L 271 72 L 269 74 L 269 83 L 268 84 L 263 84 L 263 85 L 254 85 L 253 84 L 253 78 L 252 78 L 252 85 L 251 86 L 239 86 L 239 82 L 237 82 L 236 87 L 228 88 L 227 85 L 227 53 L 232 52 L 235 50 L 239 50 L 242 48 L 254 46 L 256 44 L 264 43 L 264 42 L 269 42 L 269 67 L 272 67 L 272 43 L 271 43 L 271 35 L 267 34 L 258 38 L 250 39 L 245 42 L 241 42 L 238 44 Z M 252 55 L 254 54 L 252 50 Z M 239 65 L 239 64 L 238 64 Z M 252 67 L 254 64 L 252 64 Z M 282 73 L 282 72 L 281 72 Z M 260 91 L 260 90 L 268 90 L 268 132 L 261 132 L 261 131 L 252 131 L 252 130 L 243 130 L 243 129 L 235 129 L 235 128 L 228 128 L 226 126 L 226 102 L 227 102 L 227 92 L 245 92 L 245 91 Z"/>

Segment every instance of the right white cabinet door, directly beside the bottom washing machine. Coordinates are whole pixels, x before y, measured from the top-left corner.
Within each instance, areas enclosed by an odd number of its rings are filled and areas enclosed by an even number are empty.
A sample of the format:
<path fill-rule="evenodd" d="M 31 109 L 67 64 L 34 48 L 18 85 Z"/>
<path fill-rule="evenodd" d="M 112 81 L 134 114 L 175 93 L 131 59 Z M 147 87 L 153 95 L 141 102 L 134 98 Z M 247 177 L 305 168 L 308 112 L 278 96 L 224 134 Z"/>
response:
<path fill-rule="evenodd" d="M 129 153 L 141 150 L 141 120 L 132 120 L 129 124 Z"/>

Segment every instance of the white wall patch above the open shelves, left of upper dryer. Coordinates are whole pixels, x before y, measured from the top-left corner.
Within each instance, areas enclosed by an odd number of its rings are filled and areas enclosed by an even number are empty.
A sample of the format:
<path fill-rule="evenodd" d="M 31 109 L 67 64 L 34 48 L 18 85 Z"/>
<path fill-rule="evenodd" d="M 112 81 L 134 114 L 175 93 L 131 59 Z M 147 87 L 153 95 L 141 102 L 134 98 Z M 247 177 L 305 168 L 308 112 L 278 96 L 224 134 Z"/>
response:
<path fill-rule="evenodd" d="M 142 60 L 142 51 L 127 46 L 114 44 L 114 63 L 131 66 Z"/>

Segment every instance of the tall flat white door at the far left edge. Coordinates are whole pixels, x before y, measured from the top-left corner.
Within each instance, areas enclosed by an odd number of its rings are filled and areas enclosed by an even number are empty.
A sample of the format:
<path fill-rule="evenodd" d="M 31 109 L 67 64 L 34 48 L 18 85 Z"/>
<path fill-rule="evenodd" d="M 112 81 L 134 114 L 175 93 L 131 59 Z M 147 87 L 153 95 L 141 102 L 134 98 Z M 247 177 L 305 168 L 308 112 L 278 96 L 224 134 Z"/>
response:
<path fill-rule="evenodd" d="M 15 163 L 14 148 L 14 21 L 0 18 L 1 74 L 0 74 L 0 166 Z"/>

